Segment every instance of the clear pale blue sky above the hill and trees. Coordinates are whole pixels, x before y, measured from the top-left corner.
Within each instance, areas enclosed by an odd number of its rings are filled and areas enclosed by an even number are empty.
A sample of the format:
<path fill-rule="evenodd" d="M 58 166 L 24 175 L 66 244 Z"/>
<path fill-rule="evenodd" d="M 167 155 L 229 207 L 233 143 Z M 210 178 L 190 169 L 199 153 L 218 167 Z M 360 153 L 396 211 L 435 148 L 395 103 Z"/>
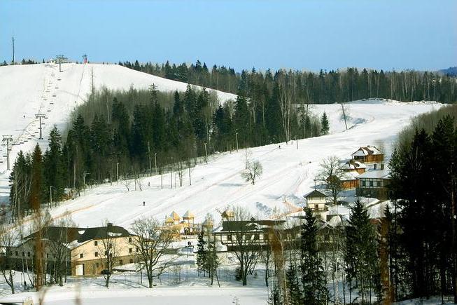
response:
<path fill-rule="evenodd" d="M 0 1 L 0 60 L 241 69 L 442 69 L 457 65 L 456 0 Z"/>

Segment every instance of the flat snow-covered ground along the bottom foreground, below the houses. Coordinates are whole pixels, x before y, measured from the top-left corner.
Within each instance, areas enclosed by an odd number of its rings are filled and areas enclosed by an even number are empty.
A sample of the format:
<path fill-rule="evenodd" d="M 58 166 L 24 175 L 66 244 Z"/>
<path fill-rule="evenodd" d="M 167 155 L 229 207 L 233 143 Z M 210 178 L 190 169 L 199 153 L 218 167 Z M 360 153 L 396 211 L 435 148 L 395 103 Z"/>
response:
<path fill-rule="evenodd" d="M 253 276 L 248 277 L 248 287 L 242 287 L 240 282 L 234 280 L 234 268 L 230 261 L 218 270 L 220 285 L 216 280 L 211 286 L 209 278 L 198 276 L 193 266 L 192 257 L 181 257 L 178 267 L 171 267 L 164 273 L 160 280 L 155 279 L 153 289 L 147 288 L 147 278 L 136 272 L 118 273 L 111 279 L 109 289 L 104 287 L 104 278 L 76 278 L 69 277 L 64 287 L 45 287 L 43 292 L 24 292 L 21 273 L 16 273 L 15 283 L 17 294 L 6 295 L 0 301 L 22 300 L 27 297 L 44 299 L 44 304 L 234 304 L 234 299 L 239 304 L 265 304 L 267 300 L 267 287 L 265 287 L 264 271 L 258 270 Z M 26 276 L 27 278 L 27 276 Z M 6 283 L 0 281 L 0 293 L 10 294 Z M 77 303 L 77 300 L 80 303 Z"/>

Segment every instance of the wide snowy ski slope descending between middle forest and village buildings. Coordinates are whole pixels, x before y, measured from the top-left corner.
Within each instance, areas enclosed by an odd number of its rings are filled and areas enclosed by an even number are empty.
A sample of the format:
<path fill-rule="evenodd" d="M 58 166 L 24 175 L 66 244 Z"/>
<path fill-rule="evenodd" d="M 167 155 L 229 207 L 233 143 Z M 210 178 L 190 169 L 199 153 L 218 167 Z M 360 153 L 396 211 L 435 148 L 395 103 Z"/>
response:
<path fill-rule="evenodd" d="M 255 185 L 240 176 L 245 162 L 245 151 L 240 149 L 213 155 L 208 164 L 192 168 L 192 185 L 189 185 L 188 172 L 183 175 L 183 187 L 176 185 L 176 175 L 170 174 L 163 177 L 164 189 L 160 188 L 160 176 L 144 178 L 142 191 L 132 191 L 133 182 L 130 191 L 122 183 L 105 184 L 87 189 L 85 196 L 62 203 L 53 208 L 51 214 L 59 218 L 68 211 L 79 226 L 98 226 L 107 219 L 128 228 L 140 217 L 151 216 L 163 221 L 172 211 L 182 216 L 191 210 L 196 222 L 202 222 L 209 213 L 217 223 L 219 211 L 227 205 L 244 206 L 257 217 L 293 210 L 302 203 L 303 194 L 314 187 L 323 158 L 349 158 L 358 147 L 380 142 L 390 154 L 397 133 L 407 126 L 412 116 L 440 106 L 435 102 L 352 102 L 349 130 L 345 130 L 339 120 L 338 104 L 319 105 L 313 111 L 329 114 L 332 134 L 299 140 L 298 149 L 295 141 L 250 149 L 251 158 L 263 166 L 263 174 Z"/>

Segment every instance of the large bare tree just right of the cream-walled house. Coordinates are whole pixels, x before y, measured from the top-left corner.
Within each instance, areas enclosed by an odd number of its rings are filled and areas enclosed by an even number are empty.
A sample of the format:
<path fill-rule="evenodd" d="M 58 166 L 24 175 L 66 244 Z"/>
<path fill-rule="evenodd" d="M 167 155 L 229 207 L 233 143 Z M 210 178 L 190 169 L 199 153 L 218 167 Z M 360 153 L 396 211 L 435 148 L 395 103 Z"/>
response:
<path fill-rule="evenodd" d="M 153 287 L 153 278 L 160 276 L 169 267 L 172 260 L 164 260 L 165 251 L 173 240 L 173 232 L 163 230 L 153 218 L 137 219 L 132 224 L 131 245 L 137 249 L 136 257 L 139 269 L 146 270 L 149 287 Z"/>

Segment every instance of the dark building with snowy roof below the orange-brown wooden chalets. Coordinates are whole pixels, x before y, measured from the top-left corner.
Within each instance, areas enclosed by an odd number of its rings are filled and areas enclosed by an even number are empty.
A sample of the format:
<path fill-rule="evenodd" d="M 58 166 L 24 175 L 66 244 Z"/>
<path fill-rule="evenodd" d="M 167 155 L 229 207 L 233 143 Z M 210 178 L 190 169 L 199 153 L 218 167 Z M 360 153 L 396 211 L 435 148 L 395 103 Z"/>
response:
<path fill-rule="evenodd" d="M 388 184 L 390 182 L 388 170 L 370 170 L 359 175 L 359 186 L 356 188 L 356 195 L 378 199 L 388 198 Z"/>

